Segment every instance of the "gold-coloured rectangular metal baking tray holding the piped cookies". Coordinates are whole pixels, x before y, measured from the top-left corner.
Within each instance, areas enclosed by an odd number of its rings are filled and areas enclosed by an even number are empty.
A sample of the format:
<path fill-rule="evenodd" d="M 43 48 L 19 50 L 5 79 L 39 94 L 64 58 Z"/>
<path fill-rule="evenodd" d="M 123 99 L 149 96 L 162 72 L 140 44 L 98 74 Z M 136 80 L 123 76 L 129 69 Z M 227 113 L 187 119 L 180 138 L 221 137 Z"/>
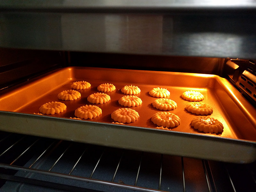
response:
<path fill-rule="evenodd" d="M 82 97 L 73 101 L 58 100 L 63 90 L 70 90 L 75 81 L 87 81 L 91 88 L 80 90 Z M 111 100 L 95 104 L 102 115 L 91 120 L 70 119 L 75 109 L 86 104 L 87 97 L 97 91 L 102 83 L 112 83 L 116 91 L 108 92 Z M 140 117 L 130 124 L 113 124 L 111 113 L 124 96 L 124 85 L 140 88 L 138 97 L 142 105 L 133 107 Z M 155 87 L 167 88 L 168 97 L 178 107 L 171 112 L 178 115 L 181 124 L 170 130 L 156 129 L 151 117 L 159 110 L 152 106 L 157 99 L 148 92 Z M 197 115 L 186 111 L 189 101 L 183 100 L 184 91 L 196 90 L 204 95 L 204 102 L 213 108 L 210 115 L 218 119 L 224 130 L 221 134 L 205 134 L 194 130 L 190 121 Z M 36 115 L 39 107 L 49 101 L 60 101 L 67 110 L 55 115 Z M 224 78 L 215 75 L 124 70 L 109 68 L 69 67 L 60 68 L 39 76 L 19 87 L 12 87 L 0 95 L 0 129 L 62 140 L 96 145 L 143 150 L 178 156 L 212 159 L 234 163 L 250 163 L 256 160 L 256 110 Z"/>

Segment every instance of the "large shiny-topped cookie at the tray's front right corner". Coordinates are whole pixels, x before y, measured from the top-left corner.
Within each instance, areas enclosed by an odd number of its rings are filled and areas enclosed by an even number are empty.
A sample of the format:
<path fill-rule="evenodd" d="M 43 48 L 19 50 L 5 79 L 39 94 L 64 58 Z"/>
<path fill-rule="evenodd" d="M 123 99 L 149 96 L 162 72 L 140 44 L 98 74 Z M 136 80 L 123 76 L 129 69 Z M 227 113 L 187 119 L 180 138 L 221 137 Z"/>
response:
<path fill-rule="evenodd" d="M 206 116 L 198 116 L 191 120 L 191 126 L 198 131 L 202 131 L 204 133 L 221 133 L 223 132 L 223 124 L 220 123 L 217 119 L 206 117 Z"/>

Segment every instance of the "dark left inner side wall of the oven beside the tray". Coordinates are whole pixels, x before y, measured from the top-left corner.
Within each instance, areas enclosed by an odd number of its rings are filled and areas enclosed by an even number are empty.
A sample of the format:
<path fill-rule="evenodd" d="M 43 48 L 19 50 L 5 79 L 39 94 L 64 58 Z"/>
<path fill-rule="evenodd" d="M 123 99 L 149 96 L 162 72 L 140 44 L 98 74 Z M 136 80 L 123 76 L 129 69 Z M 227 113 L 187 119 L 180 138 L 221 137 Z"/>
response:
<path fill-rule="evenodd" d="M 0 90 L 64 65 L 59 51 L 0 48 Z"/>

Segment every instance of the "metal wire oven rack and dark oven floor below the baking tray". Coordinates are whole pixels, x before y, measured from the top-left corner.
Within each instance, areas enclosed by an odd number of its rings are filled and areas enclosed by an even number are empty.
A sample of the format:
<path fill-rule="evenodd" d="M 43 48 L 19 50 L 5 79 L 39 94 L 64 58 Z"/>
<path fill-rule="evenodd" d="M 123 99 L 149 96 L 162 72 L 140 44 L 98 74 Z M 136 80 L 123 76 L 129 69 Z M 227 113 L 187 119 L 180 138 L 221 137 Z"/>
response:
<path fill-rule="evenodd" d="M 255 191 L 255 163 L 230 164 L 0 132 L 0 192 Z"/>

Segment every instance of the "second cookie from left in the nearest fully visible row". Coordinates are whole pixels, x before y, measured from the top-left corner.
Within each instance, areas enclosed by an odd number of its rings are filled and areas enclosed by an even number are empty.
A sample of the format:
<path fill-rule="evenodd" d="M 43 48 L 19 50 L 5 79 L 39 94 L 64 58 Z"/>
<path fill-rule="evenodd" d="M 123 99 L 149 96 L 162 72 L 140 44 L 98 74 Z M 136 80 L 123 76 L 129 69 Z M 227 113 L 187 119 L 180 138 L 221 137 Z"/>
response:
<path fill-rule="evenodd" d="M 84 105 L 75 110 L 75 116 L 80 119 L 92 119 L 102 114 L 101 108 L 95 105 Z"/>

